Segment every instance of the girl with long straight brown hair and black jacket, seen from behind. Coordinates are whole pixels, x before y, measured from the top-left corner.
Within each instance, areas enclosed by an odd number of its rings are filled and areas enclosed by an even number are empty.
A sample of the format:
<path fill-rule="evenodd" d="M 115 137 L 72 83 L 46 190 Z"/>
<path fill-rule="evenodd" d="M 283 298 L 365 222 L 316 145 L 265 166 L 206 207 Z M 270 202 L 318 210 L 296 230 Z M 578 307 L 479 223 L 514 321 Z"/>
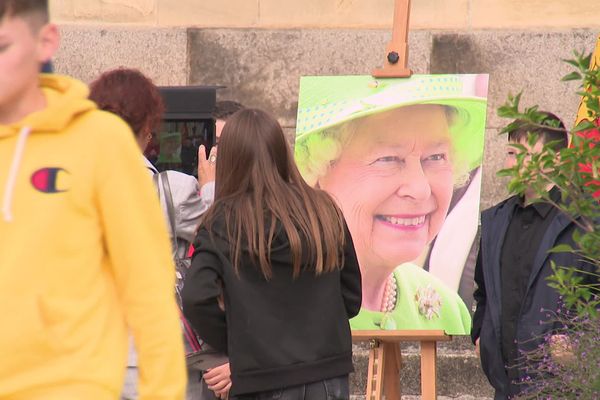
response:
<path fill-rule="evenodd" d="M 225 125 L 184 314 L 231 364 L 232 399 L 348 399 L 361 276 L 340 209 L 260 110 Z M 223 303 L 221 306 L 220 297 Z"/>

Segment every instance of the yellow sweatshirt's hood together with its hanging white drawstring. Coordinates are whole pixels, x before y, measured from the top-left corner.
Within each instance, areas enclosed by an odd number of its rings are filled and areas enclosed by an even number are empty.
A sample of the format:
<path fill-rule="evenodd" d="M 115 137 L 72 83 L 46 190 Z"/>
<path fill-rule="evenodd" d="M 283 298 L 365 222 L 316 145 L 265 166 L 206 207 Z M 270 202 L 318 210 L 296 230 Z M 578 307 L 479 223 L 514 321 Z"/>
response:
<path fill-rule="evenodd" d="M 15 184 L 21 160 L 27 146 L 27 138 L 36 133 L 60 133 L 78 115 L 93 110 L 96 105 L 87 99 L 87 86 L 67 76 L 42 74 L 40 87 L 46 97 L 46 107 L 11 125 L 0 125 L 0 139 L 18 135 L 8 170 L 8 179 L 4 184 L 2 198 L 2 216 L 10 222 L 14 200 Z"/>

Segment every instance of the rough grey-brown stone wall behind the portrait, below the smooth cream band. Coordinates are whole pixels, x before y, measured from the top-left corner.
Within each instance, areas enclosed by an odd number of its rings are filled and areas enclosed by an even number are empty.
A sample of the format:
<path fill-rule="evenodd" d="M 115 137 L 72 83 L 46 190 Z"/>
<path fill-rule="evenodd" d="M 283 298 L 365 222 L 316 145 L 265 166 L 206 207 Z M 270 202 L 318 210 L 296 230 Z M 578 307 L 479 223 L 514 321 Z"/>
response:
<path fill-rule="evenodd" d="M 302 75 L 368 74 L 382 63 L 387 30 L 201 29 L 63 25 L 59 72 L 85 81 L 117 66 L 136 67 L 160 85 L 224 85 L 236 99 L 277 115 L 293 135 Z M 504 157 L 506 121 L 496 109 L 509 93 L 560 115 L 568 125 L 579 99 L 561 59 L 591 51 L 597 31 L 415 31 L 409 64 L 415 73 L 489 72 L 490 97 L 484 161 L 483 207 L 505 195 L 496 178 Z"/>

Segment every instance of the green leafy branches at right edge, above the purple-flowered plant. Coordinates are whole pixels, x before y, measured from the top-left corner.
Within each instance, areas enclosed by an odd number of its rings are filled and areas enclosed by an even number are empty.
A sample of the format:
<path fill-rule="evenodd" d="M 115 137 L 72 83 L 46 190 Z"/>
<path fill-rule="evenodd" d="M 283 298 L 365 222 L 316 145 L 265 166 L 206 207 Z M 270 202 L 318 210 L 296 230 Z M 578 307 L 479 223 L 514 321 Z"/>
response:
<path fill-rule="evenodd" d="M 580 80 L 580 93 L 583 102 L 589 110 L 588 117 L 596 121 L 600 116 L 600 70 L 590 71 L 591 54 L 583 55 L 574 52 L 575 58 L 565 60 L 575 67 L 566 75 L 564 81 Z M 561 130 L 558 122 L 548 120 L 538 106 L 521 106 L 522 94 L 509 95 L 507 102 L 498 109 L 498 115 L 519 122 L 511 122 L 501 133 L 508 133 L 523 123 L 535 128 Z M 598 127 L 591 121 L 583 121 L 573 131 L 572 143 L 569 148 L 561 149 L 557 154 L 553 148 L 555 143 L 546 143 L 541 151 L 531 149 L 538 141 L 535 133 L 530 133 L 527 146 L 515 143 L 511 146 L 517 152 L 516 165 L 504 169 L 499 176 L 510 177 L 508 189 L 511 193 L 524 195 L 530 191 L 537 195 L 536 201 L 549 202 L 563 211 L 580 228 L 575 241 L 577 249 L 559 246 L 554 252 L 571 251 L 586 261 L 600 266 L 600 134 L 585 135 L 586 132 Z M 562 199 L 554 203 L 549 196 L 548 188 L 556 186 L 560 189 Z M 581 287 L 577 274 L 568 273 L 569 266 L 557 268 L 551 278 L 555 287 L 565 302 L 581 312 L 595 312 L 600 305 L 597 297 L 597 287 Z"/>

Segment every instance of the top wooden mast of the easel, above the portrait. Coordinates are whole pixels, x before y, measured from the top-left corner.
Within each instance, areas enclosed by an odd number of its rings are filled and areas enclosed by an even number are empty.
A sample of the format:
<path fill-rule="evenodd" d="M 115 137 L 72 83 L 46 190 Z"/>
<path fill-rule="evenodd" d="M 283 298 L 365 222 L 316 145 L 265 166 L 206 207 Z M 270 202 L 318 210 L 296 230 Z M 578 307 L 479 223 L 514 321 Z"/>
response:
<path fill-rule="evenodd" d="M 376 68 L 375 78 L 408 78 L 412 71 L 408 62 L 408 26 L 410 21 L 410 0 L 396 0 L 392 41 L 386 48 L 383 68 Z"/>

